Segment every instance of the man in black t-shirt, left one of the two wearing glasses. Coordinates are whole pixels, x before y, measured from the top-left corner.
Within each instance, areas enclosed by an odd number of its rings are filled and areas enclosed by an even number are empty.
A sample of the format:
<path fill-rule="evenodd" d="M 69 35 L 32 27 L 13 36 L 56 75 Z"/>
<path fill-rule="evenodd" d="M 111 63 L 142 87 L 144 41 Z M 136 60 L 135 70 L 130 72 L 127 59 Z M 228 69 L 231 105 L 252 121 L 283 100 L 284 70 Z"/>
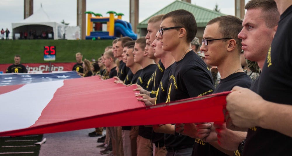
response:
<path fill-rule="evenodd" d="M 166 102 L 212 93 L 213 78 L 204 61 L 190 49 L 190 42 L 197 33 L 197 23 L 192 13 L 176 10 L 162 18 L 159 33 L 162 49 L 169 51 L 175 63 L 169 73 Z M 175 125 L 153 126 L 164 128 L 167 155 L 191 155 L 194 139 L 175 137 Z M 179 134 L 176 134 L 177 136 Z"/>

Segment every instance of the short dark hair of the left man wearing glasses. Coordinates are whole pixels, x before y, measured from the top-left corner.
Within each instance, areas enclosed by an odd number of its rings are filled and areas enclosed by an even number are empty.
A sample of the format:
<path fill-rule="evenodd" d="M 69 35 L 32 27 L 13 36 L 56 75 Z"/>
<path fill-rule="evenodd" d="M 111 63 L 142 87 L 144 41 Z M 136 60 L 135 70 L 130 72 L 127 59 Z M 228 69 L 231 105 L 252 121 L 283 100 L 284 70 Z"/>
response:
<path fill-rule="evenodd" d="M 181 26 L 185 28 L 187 32 L 187 42 L 188 43 L 192 42 L 198 30 L 197 22 L 195 20 L 194 15 L 189 11 L 180 9 L 165 14 L 162 17 L 162 20 L 168 17 L 172 19 L 172 22 L 175 24 L 174 26 Z"/>

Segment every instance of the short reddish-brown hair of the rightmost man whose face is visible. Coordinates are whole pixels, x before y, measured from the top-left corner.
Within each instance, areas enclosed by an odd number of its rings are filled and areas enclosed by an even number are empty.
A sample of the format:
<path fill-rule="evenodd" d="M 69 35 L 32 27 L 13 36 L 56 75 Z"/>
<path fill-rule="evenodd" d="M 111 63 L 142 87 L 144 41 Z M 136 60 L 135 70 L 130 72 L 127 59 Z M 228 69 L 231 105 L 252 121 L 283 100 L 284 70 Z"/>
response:
<path fill-rule="evenodd" d="M 262 9 L 262 16 L 265 20 L 267 28 L 273 28 L 274 26 L 278 25 L 280 20 L 280 13 L 274 0 L 250 0 L 244 8 L 246 10 Z"/>

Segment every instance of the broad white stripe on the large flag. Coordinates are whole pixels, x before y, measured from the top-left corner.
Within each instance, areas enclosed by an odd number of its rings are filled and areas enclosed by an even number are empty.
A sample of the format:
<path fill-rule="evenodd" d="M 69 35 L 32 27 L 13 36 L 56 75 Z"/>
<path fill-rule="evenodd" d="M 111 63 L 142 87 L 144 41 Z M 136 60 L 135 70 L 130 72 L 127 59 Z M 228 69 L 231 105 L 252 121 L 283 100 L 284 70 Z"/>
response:
<path fill-rule="evenodd" d="M 0 132 L 33 125 L 63 84 L 63 80 L 31 83 L 1 94 Z"/>

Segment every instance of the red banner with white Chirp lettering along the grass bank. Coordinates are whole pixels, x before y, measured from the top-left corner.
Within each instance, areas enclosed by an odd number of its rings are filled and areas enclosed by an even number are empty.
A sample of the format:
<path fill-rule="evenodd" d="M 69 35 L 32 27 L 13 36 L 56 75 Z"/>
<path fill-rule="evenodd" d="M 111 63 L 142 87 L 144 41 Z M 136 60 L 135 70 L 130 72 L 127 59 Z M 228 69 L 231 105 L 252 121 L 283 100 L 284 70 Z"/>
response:
<path fill-rule="evenodd" d="M 51 63 L 51 71 L 72 71 L 72 68 L 76 62 L 70 63 Z M 6 69 L 12 64 L 0 64 L 0 72 L 6 73 Z M 49 72 L 49 63 L 30 63 L 23 64 L 28 72 Z"/>

